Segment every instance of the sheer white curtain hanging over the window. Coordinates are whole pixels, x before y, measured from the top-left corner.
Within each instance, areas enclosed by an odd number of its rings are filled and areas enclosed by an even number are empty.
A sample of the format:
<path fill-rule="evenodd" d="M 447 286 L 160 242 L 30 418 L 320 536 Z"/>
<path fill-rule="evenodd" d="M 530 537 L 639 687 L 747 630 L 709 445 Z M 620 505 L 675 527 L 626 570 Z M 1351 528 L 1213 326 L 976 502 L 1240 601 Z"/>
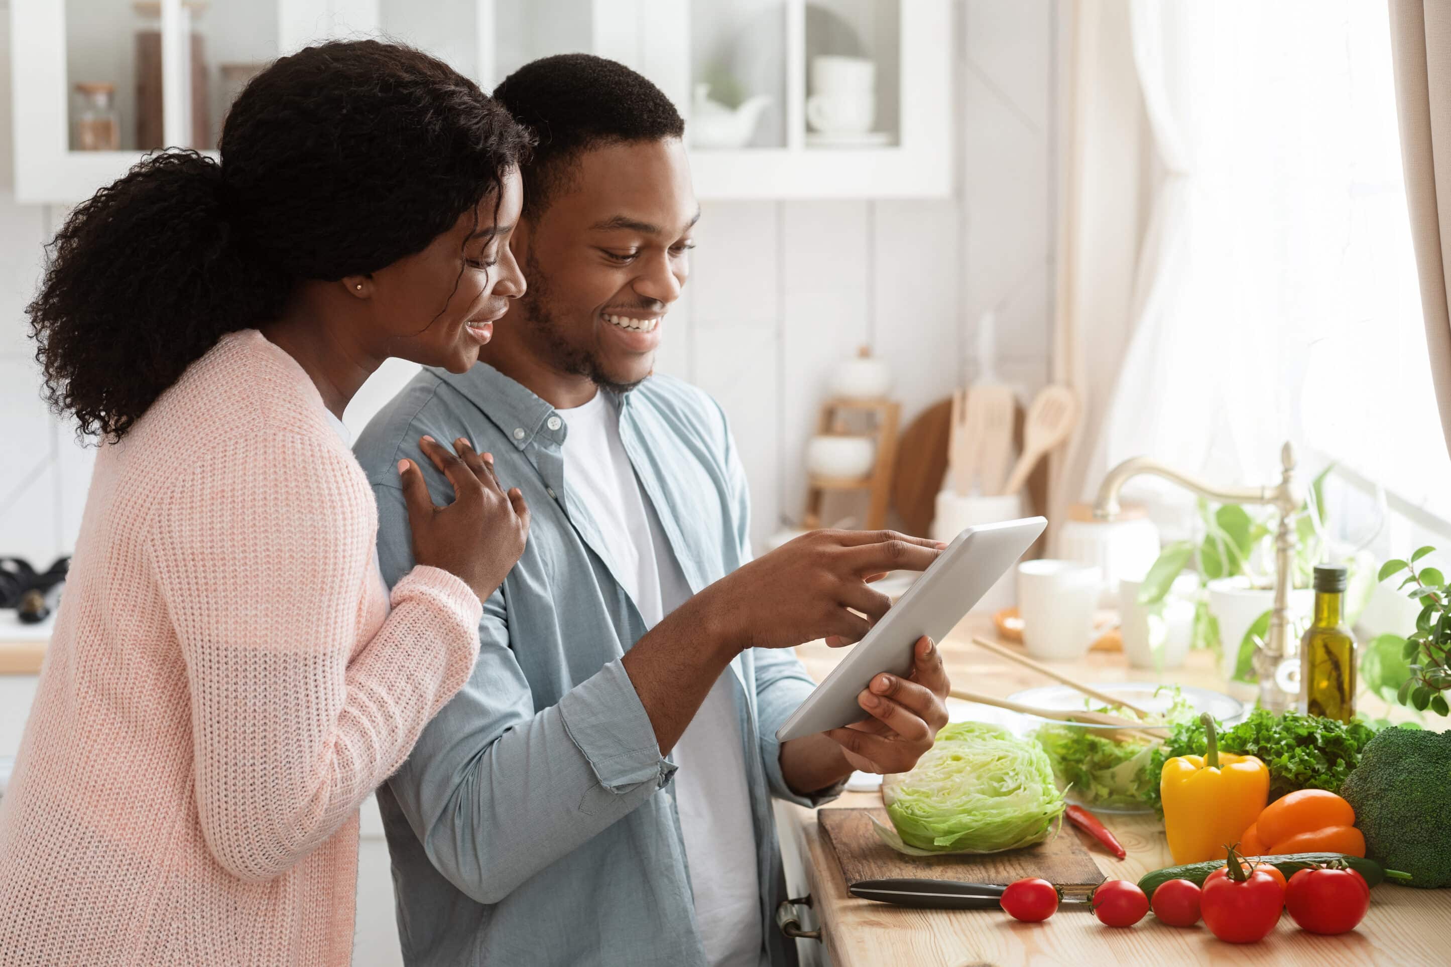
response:
<path fill-rule="evenodd" d="M 1129 10 L 1161 174 L 1093 465 L 1148 454 L 1213 481 L 1268 483 L 1280 444 L 1309 438 L 1384 468 L 1403 438 L 1365 425 L 1383 412 L 1368 400 L 1412 378 L 1390 364 L 1405 306 L 1384 10 L 1365 0 L 1133 0 Z M 1085 496 L 1096 484 L 1088 474 Z"/>

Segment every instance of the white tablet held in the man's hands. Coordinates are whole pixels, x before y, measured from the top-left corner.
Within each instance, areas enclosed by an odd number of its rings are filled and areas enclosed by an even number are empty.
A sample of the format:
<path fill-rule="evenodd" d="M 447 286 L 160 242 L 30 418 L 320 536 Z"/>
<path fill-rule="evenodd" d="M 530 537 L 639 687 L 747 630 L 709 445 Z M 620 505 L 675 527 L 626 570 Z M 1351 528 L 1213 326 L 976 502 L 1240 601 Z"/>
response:
<path fill-rule="evenodd" d="M 1043 518 L 1023 518 L 959 534 L 866 636 L 849 645 L 850 654 L 776 729 L 776 739 L 785 742 L 866 718 L 856 696 L 872 676 L 882 671 L 903 677 L 911 674 L 917 639 L 927 635 L 940 642 L 1023 557 L 1045 526 L 1048 520 Z"/>

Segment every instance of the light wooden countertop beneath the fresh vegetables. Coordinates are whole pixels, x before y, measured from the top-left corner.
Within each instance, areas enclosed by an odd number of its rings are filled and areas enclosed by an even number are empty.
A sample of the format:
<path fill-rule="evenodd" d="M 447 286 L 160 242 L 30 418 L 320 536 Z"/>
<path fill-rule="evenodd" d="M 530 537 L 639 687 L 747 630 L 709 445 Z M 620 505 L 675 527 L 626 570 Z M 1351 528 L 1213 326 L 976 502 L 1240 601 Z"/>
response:
<path fill-rule="evenodd" d="M 974 690 L 1010 694 L 1019 689 L 1049 684 L 1035 673 L 975 648 L 971 634 L 991 634 L 991 622 L 969 615 L 942 642 L 943 658 L 953 681 Z M 821 644 L 797 649 L 813 676 L 830 671 L 840 652 Z M 1191 652 L 1185 667 L 1155 676 L 1130 670 L 1122 652 L 1091 652 L 1082 661 L 1055 665 L 1072 670 L 1084 681 L 1162 680 L 1223 690 L 1207 652 Z M 1371 702 L 1367 712 L 1384 715 Z M 833 806 L 879 806 L 878 793 L 846 793 Z M 1159 924 L 1154 915 L 1132 929 L 1103 926 L 1087 906 L 1061 906 L 1043 924 L 1019 924 L 992 910 L 913 910 L 846 893 L 840 866 L 815 822 L 815 812 L 788 806 L 782 844 L 798 844 L 813 896 L 813 909 L 823 926 L 823 941 L 836 967 L 889 967 L 892 964 L 1216 964 L 1226 960 L 1245 964 L 1444 964 L 1445 928 L 1451 924 L 1451 889 L 1413 890 L 1378 886 L 1361 925 L 1341 937 L 1316 937 L 1299 929 L 1286 916 L 1264 941 L 1248 945 L 1225 944 L 1203 924 L 1178 929 Z M 1110 879 L 1138 880 L 1149 870 L 1171 864 L 1162 825 L 1154 816 L 1100 819 L 1127 851 L 1126 860 L 1090 847 L 1098 868 Z M 1077 835 L 1065 828 L 1062 835 Z M 1087 841 L 1085 841 L 1087 842 Z M 785 845 L 785 848 L 791 848 Z"/>

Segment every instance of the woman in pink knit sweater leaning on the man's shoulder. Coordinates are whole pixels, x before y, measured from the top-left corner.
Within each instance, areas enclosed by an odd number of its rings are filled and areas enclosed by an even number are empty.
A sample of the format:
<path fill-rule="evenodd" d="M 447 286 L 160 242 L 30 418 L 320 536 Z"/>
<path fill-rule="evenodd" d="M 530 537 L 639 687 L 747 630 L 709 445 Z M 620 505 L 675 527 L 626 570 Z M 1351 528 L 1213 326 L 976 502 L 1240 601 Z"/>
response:
<path fill-rule="evenodd" d="M 528 510 L 488 454 L 399 461 L 389 599 L 342 438 L 387 357 L 461 373 L 524 278 L 527 135 L 371 41 L 283 58 L 221 162 L 155 155 L 74 210 L 29 307 L 102 438 L 0 805 L 0 964 L 347 964 L 357 810 L 469 677 Z"/>

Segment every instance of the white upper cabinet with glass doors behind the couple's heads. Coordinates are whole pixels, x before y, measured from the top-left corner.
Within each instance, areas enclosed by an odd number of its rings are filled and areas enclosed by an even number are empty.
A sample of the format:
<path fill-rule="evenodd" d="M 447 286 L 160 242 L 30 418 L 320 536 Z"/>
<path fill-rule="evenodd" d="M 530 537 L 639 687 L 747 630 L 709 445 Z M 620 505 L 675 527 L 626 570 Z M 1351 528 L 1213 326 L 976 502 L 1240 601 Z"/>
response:
<path fill-rule="evenodd" d="M 335 36 L 412 43 L 486 90 L 548 54 L 628 64 L 685 115 L 702 199 L 952 190 L 950 0 L 10 0 L 17 200 L 215 151 L 252 74 Z"/>

